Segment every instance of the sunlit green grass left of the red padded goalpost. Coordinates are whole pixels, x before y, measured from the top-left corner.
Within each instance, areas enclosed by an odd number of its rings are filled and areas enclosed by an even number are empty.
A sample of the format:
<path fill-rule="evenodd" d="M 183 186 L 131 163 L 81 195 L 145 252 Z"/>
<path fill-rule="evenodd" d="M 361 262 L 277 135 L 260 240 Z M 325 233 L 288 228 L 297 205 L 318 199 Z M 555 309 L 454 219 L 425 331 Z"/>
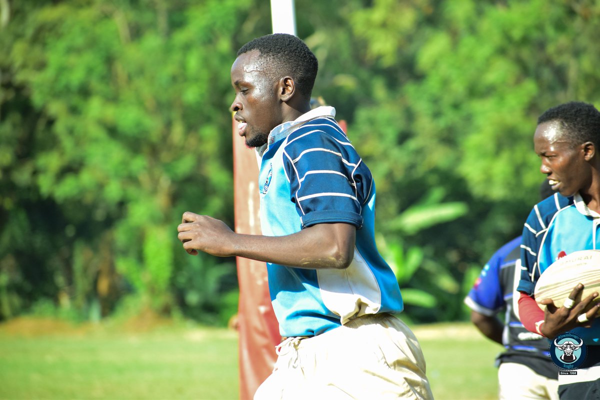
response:
<path fill-rule="evenodd" d="M 0 326 L 0 398 L 236 399 L 237 353 L 226 329 L 24 336 Z"/>

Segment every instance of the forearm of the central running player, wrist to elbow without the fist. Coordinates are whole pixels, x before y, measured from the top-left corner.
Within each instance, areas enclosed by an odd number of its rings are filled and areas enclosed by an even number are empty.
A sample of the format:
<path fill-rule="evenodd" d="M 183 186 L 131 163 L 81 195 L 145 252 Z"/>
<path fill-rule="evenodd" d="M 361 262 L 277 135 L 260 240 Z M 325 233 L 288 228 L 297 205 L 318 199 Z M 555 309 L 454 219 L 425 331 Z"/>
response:
<path fill-rule="evenodd" d="M 348 224 L 319 224 L 288 236 L 236 234 L 232 255 L 307 269 L 349 266 L 356 229 Z"/>

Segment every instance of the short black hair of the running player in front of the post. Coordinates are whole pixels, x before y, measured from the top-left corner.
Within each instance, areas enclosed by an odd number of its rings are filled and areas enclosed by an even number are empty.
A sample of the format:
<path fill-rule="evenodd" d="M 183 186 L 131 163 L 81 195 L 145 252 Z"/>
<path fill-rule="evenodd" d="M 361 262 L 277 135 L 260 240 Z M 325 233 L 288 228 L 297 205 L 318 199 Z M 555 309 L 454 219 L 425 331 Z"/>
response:
<path fill-rule="evenodd" d="M 291 76 L 300 93 L 310 98 L 319 62 L 302 40 L 289 34 L 261 36 L 244 44 L 238 50 L 238 57 L 251 50 L 259 50 L 273 79 Z"/>

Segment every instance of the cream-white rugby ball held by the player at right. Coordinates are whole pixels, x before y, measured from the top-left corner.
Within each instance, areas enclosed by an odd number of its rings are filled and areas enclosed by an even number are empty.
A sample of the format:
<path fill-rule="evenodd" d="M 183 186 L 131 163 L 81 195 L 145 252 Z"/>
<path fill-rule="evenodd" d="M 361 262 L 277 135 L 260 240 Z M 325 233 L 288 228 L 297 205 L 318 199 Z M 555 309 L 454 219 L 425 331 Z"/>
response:
<path fill-rule="evenodd" d="M 533 294 L 538 303 L 543 299 L 552 299 L 554 305 L 562 307 L 578 283 L 583 284 L 583 290 L 575 299 L 575 304 L 595 291 L 600 293 L 600 250 L 574 251 L 554 261 L 539 277 Z M 586 311 L 598 301 L 600 296 L 590 303 Z"/>

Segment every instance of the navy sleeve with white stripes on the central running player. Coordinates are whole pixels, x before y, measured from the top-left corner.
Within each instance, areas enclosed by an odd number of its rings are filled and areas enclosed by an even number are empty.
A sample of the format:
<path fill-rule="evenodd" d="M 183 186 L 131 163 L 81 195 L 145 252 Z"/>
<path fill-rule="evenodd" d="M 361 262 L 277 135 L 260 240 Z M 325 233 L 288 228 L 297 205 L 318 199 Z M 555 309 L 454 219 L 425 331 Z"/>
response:
<path fill-rule="evenodd" d="M 284 167 L 303 228 L 332 222 L 362 226 L 373 178 L 337 124 L 320 119 L 290 134 Z"/>

